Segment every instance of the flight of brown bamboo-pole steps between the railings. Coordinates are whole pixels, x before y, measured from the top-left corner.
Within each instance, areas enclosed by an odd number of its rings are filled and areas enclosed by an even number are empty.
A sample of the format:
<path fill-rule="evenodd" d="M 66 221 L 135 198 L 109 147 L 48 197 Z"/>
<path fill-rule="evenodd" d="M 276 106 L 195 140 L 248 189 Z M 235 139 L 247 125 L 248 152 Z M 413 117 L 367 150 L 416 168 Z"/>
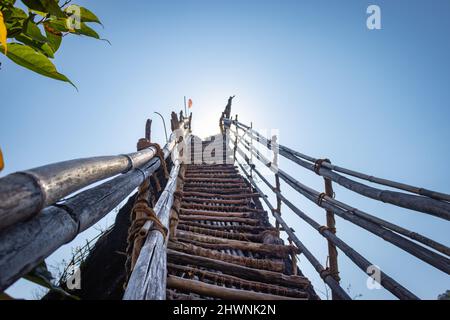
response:
<path fill-rule="evenodd" d="M 188 165 L 177 225 L 167 244 L 167 297 L 311 299 L 309 280 L 292 274 L 298 249 L 279 230 L 234 165 Z"/>

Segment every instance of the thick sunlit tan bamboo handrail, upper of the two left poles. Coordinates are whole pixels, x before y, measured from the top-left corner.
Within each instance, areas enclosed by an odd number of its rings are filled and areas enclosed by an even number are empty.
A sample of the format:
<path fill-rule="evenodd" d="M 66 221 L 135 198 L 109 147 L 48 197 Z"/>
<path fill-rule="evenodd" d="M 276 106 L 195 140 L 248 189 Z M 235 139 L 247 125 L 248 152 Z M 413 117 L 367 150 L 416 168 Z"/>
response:
<path fill-rule="evenodd" d="M 183 123 L 183 127 L 184 127 Z M 167 156 L 176 144 L 173 133 L 164 147 Z M 0 230 L 25 221 L 95 182 L 140 169 L 156 156 L 150 147 L 118 156 L 76 159 L 12 173 L 0 179 Z"/>

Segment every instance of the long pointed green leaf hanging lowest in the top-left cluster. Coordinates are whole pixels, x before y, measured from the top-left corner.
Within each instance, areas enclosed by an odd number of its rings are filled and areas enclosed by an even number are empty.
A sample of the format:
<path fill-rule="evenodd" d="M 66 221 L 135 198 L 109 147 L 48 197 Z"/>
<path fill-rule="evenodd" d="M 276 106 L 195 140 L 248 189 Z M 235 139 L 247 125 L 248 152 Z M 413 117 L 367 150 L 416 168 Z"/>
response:
<path fill-rule="evenodd" d="M 49 58 L 27 45 L 9 43 L 7 57 L 24 68 L 52 79 L 68 82 L 76 88 L 72 81 L 56 70 Z"/>

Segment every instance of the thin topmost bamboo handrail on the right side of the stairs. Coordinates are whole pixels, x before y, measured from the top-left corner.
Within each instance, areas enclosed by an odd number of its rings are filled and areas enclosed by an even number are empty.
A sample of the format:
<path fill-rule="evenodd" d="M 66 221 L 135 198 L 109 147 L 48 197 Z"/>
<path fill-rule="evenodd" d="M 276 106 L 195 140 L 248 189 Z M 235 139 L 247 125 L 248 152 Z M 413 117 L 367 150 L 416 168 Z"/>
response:
<path fill-rule="evenodd" d="M 228 125 L 230 124 L 234 124 L 236 126 L 240 126 L 242 129 L 245 129 L 247 131 L 250 131 L 251 133 L 253 133 L 257 138 L 258 141 L 260 141 L 262 144 L 265 143 L 265 145 L 267 147 L 270 146 L 269 140 L 266 139 L 265 137 L 263 137 L 261 134 L 259 134 L 257 131 L 255 131 L 254 129 L 250 128 L 247 125 L 244 125 L 242 123 L 240 123 L 239 121 L 234 121 L 234 120 L 227 120 Z M 302 154 L 298 151 L 292 150 L 291 148 L 288 148 L 286 146 L 280 145 L 278 144 L 278 148 L 279 148 L 279 152 L 281 155 L 285 156 L 286 154 L 292 154 L 297 158 L 301 158 L 304 160 L 307 160 L 309 162 L 312 163 L 316 163 L 318 159 L 314 158 L 314 157 L 310 157 L 308 155 Z M 337 171 L 337 172 L 341 172 L 350 176 L 353 176 L 355 178 L 359 178 L 359 179 L 363 179 L 369 182 L 373 182 L 373 183 L 377 183 L 380 185 L 384 185 L 387 187 L 391 187 L 391 188 L 396 188 L 396 189 L 400 189 L 400 190 L 404 190 L 404 191 L 408 191 L 411 193 L 415 193 L 421 196 L 425 196 L 425 197 L 429 197 L 429 198 L 433 198 L 433 199 L 437 199 L 437 200 L 444 200 L 444 201 L 450 201 L 450 194 L 446 194 L 446 193 L 442 193 L 442 192 L 437 192 L 437 191 L 433 191 L 433 190 L 428 190 L 425 188 L 420 188 L 420 187 L 415 187 L 412 185 L 408 185 L 405 183 L 401 183 L 401 182 L 396 182 L 396 181 L 392 181 L 392 180 L 388 180 L 388 179 L 384 179 L 384 178 L 378 178 L 372 175 L 368 175 L 365 173 L 361 173 L 355 170 L 350 170 L 350 169 L 346 169 L 340 166 L 336 166 L 330 163 L 322 163 L 322 166 L 329 169 L 329 170 L 333 170 L 333 171 Z"/>

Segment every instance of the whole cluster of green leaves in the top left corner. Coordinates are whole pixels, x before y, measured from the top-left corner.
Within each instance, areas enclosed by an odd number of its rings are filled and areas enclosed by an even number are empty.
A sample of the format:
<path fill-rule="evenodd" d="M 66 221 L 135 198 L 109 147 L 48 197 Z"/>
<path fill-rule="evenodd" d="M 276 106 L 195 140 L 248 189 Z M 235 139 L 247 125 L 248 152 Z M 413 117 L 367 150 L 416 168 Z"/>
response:
<path fill-rule="evenodd" d="M 52 59 L 66 35 L 104 40 L 88 25 L 102 25 L 99 18 L 71 0 L 21 1 L 28 12 L 18 7 L 16 0 L 0 0 L 0 52 L 22 67 L 75 87 L 58 72 Z"/>

